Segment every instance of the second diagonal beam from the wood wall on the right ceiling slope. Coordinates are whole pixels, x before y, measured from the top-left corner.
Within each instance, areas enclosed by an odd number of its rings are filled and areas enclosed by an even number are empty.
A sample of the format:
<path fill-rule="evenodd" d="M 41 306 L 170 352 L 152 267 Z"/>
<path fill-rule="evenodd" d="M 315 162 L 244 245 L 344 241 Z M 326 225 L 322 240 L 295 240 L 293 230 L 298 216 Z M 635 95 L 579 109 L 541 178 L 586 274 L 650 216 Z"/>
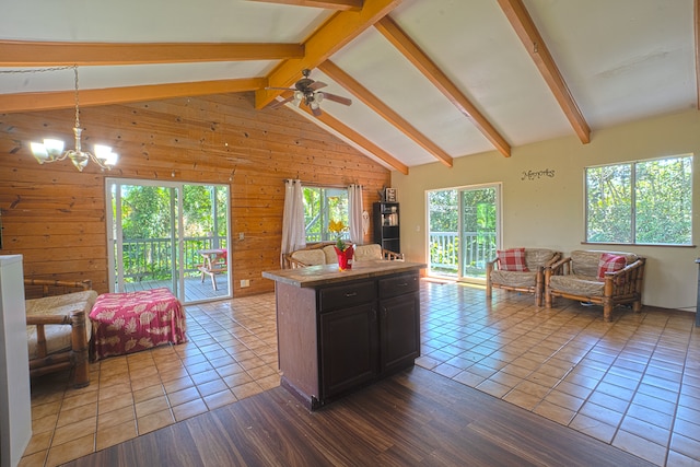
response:
<path fill-rule="evenodd" d="M 438 144 L 428 139 L 424 135 L 418 131 L 411 124 L 409 124 L 404 117 L 398 115 L 388 105 L 382 102 L 376 95 L 372 94 L 366 87 L 360 84 L 357 80 L 341 70 L 336 63 L 330 60 L 326 60 L 318 66 L 318 69 L 328 74 L 334 81 L 348 90 L 352 95 L 362 101 L 368 107 L 380 114 L 389 124 L 394 125 L 413 140 L 417 144 L 430 152 L 435 159 L 442 162 L 447 167 L 452 167 L 452 156 L 443 151 Z"/>

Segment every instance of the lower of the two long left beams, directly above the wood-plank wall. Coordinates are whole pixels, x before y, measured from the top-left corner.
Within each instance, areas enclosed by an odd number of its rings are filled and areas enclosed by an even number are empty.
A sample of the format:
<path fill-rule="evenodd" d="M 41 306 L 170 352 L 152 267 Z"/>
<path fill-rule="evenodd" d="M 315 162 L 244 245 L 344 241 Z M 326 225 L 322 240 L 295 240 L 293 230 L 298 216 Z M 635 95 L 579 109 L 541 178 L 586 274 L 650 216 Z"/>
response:
<path fill-rule="evenodd" d="M 225 94 L 255 91 L 265 87 L 264 78 L 241 80 L 199 81 L 141 86 L 80 90 L 80 106 L 122 104 L 141 101 L 187 97 L 208 94 Z M 5 94 L 0 100 L 0 114 L 15 112 L 52 110 L 75 105 L 74 91 Z"/>

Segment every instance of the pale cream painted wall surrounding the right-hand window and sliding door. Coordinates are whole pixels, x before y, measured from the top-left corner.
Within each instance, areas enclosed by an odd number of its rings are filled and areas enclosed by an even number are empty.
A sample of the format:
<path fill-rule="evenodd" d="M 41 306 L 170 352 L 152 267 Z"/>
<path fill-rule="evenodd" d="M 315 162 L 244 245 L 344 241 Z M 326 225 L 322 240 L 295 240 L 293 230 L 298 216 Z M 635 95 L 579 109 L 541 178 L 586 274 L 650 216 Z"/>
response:
<path fill-rule="evenodd" d="M 401 203 L 401 253 L 427 260 L 425 190 L 502 183 L 503 246 L 542 246 L 563 252 L 614 249 L 648 258 L 643 302 L 665 308 L 695 311 L 697 247 L 583 244 L 584 167 L 597 164 L 695 154 L 693 242 L 700 242 L 700 112 L 688 110 L 593 129 L 592 141 L 560 138 L 514 148 L 511 157 L 492 151 L 457 157 L 452 168 L 440 163 L 392 173 Z M 553 171 L 553 177 L 523 179 L 527 171 Z"/>

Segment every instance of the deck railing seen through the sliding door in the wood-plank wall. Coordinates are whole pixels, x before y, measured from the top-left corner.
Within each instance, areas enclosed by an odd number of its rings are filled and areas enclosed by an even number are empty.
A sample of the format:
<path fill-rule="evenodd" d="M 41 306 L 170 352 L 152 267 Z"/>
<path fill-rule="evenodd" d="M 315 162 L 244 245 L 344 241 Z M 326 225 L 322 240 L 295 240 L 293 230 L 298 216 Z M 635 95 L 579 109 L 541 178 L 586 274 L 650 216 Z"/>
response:
<path fill-rule="evenodd" d="M 225 248 L 226 240 L 211 236 L 185 237 L 183 245 L 184 271 L 188 276 L 199 273 L 198 266 L 202 264 L 200 249 Z M 177 253 L 175 252 L 176 261 Z M 125 240 L 121 262 L 127 282 L 167 279 L 173 271 L 173 242 L 171 238 Z"/>

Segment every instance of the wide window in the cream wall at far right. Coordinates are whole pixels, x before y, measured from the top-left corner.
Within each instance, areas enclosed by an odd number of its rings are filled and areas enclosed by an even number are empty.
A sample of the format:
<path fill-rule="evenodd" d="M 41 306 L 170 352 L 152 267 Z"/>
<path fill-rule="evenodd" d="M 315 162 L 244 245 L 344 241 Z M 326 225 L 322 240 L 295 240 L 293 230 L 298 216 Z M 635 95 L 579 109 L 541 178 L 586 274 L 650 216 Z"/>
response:
<path fill-rule="evenodd" d="M 692 244 L 692 155 L 585 172 L 586 242 Z"/>

